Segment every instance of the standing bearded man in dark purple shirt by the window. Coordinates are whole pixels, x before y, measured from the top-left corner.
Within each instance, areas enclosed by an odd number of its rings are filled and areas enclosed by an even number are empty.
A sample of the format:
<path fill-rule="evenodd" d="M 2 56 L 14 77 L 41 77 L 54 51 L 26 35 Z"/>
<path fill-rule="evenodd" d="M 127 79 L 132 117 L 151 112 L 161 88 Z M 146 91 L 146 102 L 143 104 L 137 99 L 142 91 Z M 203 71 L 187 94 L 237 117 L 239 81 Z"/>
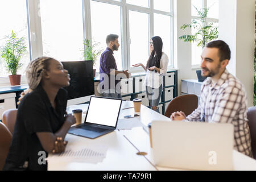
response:
<path fill-rule="evenodd" d="M 118 51 L 118 35 L 110 34 L 106 37 L 106 50 L 100 58 L 100 92 L 104 97 L 122 98 L 118 82 L 121 77 L 129 77 L 126 71 L 117 71 L 117 64 L 113 56 Z M 124 75 L 123 75 L 124 74 Z M 118 75 L 118 76 L 117 76 Z"/>

